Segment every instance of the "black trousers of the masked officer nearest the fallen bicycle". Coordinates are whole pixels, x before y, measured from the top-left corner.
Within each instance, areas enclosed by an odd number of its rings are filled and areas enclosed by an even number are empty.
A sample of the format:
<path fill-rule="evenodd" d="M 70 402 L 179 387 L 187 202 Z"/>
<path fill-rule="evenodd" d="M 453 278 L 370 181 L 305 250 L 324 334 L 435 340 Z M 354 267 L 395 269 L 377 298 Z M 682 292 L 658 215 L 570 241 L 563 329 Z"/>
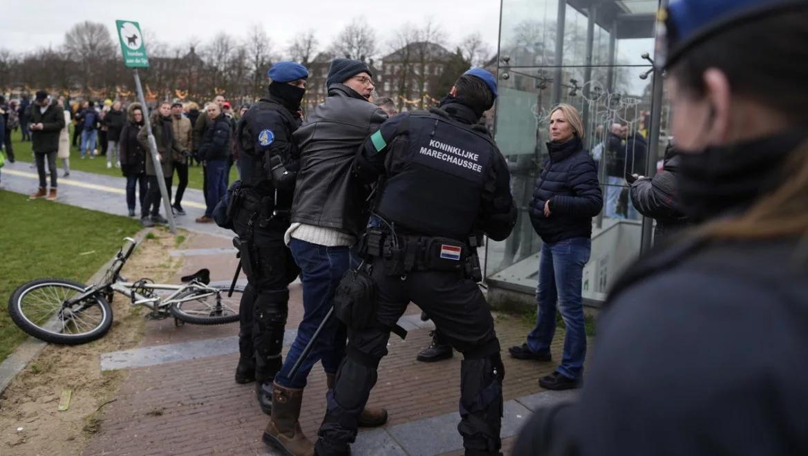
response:
<path fill-rule="evenodd" d="M 266 228 L 248 222 L 255 211 L 238 209 L 234 231 L 248 239 L 252 230 L 251 274 L 239 309 L 238 351 L 242 358 L 255 357 L 255 379 L 267 382 L 283 366 L 281 350 L 288 316 L 289 283 L 300 274 L 292 252 L 284 244 L 288 221 L 271 220 Z M 246 256 L 242 253 L 242 261 Z M 242 263 L 243 267 L 243 263 Z M 245 270 L 246 272 L 246 270 Z"/>

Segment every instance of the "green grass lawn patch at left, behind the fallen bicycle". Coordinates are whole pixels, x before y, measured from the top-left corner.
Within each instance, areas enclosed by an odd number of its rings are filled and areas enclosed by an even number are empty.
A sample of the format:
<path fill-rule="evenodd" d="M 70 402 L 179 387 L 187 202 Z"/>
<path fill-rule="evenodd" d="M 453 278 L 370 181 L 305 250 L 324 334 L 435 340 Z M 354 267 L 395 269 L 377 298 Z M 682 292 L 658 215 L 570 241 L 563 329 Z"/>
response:
<path fill-rule="evenodd" d="M 25 143 L 30 144 L 30 143 Z M 30 147 L 30 146 L 29 146 Z M 112 258 L 137 221 L 0 191 L 0 362 L 27 338 L 8 316 L 15 288 L 35 278 L 85 282 Z"/>

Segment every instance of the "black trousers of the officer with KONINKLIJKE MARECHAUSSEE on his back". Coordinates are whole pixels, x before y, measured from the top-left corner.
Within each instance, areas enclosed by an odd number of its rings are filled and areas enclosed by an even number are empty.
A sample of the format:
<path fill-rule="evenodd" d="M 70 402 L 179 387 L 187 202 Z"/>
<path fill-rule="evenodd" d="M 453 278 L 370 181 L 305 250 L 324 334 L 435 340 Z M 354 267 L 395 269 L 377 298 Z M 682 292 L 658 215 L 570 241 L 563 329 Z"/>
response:
<path fill-rule="evenodd" d="M 348 333 L 347 357 L 327 394 L 318 454 L 341 454 L 356 439 L 357 419 L 376 384 L 379 361 L 387 354 L 390 331 L 385 325 L 395 324 L 410 301 L 427 312 L 445 341 L 463 354 L 458 426 L 463 445 L 481 454 L 498 452 L 505 373 L 494 319 L 477 283 L 461 272 L 416 271 L 404 280 L 389 277 L 383 261 L 375 258 L 371 273 L 381 324 Z"/>

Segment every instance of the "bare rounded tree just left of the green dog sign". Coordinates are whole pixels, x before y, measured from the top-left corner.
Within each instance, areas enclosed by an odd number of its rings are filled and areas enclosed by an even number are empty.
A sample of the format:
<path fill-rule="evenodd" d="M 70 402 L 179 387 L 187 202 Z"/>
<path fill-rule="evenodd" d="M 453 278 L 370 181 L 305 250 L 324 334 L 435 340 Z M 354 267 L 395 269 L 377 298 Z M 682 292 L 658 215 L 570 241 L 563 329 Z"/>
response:
<path fill-rule="evenodd" d="M 103 83 L 103 72 L 115 56 L 115 45 L 103 23 L 84 21 L 65 33 L 65 50 L 80 64 L 82 86 Z"/>

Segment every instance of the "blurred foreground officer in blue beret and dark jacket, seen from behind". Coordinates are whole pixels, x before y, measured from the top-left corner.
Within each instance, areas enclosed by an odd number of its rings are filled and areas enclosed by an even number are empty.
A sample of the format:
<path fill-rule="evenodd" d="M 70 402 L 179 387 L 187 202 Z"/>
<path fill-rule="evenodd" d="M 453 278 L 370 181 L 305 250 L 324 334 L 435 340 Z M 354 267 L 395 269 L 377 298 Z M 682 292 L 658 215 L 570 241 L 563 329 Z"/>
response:
<path fill-rule="evenodd" d="M 660 17 L 696 226 L 621 274 L 579 400 L 537 412 L 517 456 L 808 454 L 808 2 Z"/>

